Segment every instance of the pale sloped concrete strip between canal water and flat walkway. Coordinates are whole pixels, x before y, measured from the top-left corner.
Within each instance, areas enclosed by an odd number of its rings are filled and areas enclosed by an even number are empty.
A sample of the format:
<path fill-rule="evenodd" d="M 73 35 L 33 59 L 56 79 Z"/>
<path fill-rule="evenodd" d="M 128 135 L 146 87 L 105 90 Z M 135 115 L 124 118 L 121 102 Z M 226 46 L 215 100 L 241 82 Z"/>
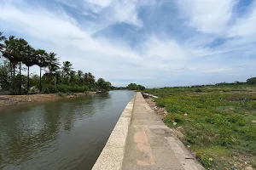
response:
<path fill-rule="evenodd" d="M 136 97 L 135 97 L 136 98 Z M 131 123 L 134 99 L 126 105 L 119 121 L 113 128 L 108 138 L 108 142 L 98 157 L 92 170 L 120 170 L 125 156 L 125 144 L 128 136 L 128 130 Z"/>

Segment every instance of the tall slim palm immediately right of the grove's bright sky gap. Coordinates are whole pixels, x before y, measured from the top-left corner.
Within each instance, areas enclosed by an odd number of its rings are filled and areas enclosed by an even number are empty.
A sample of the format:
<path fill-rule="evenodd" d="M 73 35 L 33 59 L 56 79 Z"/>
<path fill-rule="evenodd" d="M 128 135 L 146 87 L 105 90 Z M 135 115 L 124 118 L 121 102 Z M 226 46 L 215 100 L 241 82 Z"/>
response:
<path fill-rule="evenodd" d="M 39 90 L 42 92 L 42 68 L 49 65 L 48 54 L 44 51 L 44 49 L 38 49 L 36 51 L 38 63 L 37 65 L 40 67 L 40 83 Z"/>

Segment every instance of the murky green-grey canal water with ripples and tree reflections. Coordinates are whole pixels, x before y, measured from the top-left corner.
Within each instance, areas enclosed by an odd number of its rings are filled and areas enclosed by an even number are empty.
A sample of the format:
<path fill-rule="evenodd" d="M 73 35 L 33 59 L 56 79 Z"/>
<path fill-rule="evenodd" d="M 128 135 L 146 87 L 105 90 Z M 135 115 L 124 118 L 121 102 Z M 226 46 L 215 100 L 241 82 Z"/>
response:
<path fill-rule="evenodd" d="M 91 169 L 132 91 L 0 108 L 0 169 Z"/>

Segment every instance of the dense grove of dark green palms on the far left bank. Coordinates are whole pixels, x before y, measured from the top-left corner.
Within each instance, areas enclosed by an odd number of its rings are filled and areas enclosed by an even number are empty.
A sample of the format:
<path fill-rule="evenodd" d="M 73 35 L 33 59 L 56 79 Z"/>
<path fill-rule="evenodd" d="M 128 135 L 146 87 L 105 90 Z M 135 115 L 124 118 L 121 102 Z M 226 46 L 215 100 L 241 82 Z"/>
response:
<path fill-rule="evenodd" d="M 7 94 L 106 92 L 112 87 L 103 78 L 96 81 L 90 72 L 73 71 L 69 61 L 61 65 L 55 53 L 32 48 L 22 38 L 3 37 L 3 32 L 0 32 L 0 58 L 3 60 L 0 63 L 0 91 Z M 38 65 L 39 76 L 30 76 L 32 65 Z M 27 74 L 22 75 L 25 70 Z"/>

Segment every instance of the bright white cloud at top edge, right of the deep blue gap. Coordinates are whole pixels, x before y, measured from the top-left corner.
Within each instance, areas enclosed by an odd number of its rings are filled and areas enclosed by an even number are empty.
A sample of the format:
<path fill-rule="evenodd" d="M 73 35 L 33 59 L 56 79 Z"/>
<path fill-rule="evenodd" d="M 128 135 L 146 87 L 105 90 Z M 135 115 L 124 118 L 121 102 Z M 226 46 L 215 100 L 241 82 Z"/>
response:
<path fill-rule="evenodd" d="M 189 26 L 205 33 L 221 34 L 232 16 L 234 0 L 180 0 L 182 14 L 189 19 Z"/>

